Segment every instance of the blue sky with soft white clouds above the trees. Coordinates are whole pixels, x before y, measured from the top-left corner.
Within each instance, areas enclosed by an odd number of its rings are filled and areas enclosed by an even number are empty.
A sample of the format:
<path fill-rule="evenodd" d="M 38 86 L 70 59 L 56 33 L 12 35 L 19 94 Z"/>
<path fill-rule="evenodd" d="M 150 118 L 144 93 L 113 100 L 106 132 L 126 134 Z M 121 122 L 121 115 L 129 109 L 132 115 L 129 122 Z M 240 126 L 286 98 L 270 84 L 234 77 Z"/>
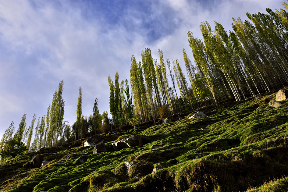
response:
<path fill-rule="evenodd" d="M 92 113 L 95 98 L 109 113 L 108 76 L 130 82 L 131 57 L 151 49 L 158 59 L 178 59 L 182 49 L 193 62 L 187 31 L 201 38 L 199 25 L 214 21 L 232 30 L 232 17 L 283 8 L 284 0 L 0 0 L 0 138 L 13 121 L 16 130 L 27 113 L 46 115 L 64 80 L 64 120 L 76 121 L 78 89 L 82 114 Z M 166 59 L 165 59 L 166 60 Z M 37 121 L 37 120 L 36 120 Z"/>

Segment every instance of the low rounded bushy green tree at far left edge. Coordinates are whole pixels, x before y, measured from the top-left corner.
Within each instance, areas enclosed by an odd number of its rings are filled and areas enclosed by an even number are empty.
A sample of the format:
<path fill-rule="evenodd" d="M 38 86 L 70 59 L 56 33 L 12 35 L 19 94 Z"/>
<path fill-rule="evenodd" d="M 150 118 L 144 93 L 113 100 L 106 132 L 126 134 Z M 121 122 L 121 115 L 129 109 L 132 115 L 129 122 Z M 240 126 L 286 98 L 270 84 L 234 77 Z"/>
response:
<path fill-rule="evenodd" d="M 24 154 L 27 148 L 22 141 L 16 139 L 9 139 L 5 142 L 3 148 L 0 150 L 1 161 L 7 161 L 9 159 L 18 157 Z"/>

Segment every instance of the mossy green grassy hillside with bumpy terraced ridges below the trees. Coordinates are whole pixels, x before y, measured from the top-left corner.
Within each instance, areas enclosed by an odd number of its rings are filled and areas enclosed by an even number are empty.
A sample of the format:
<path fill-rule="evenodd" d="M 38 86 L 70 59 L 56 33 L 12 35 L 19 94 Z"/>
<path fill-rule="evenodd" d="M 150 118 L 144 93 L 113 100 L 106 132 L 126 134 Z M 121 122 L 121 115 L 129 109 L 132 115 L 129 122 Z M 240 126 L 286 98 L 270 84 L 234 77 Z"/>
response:
<path fill-rule="evenodd" d="M 138 147 L 111 147 L 131 129 L 104 135 L 107 152 L 92 154 L 78 140 L 23 155 L 0 165 L 0 191 L 288 191 L 288 100 L 270 109 L 275 95 L 202 109 L 204 118 L 138 127 Z M 51 162 L 30 168 L 35 154 Z M 127 161 L 134 162 L 128 174 Z M 157 164 L 164 169 L 151 174 Z"/>

